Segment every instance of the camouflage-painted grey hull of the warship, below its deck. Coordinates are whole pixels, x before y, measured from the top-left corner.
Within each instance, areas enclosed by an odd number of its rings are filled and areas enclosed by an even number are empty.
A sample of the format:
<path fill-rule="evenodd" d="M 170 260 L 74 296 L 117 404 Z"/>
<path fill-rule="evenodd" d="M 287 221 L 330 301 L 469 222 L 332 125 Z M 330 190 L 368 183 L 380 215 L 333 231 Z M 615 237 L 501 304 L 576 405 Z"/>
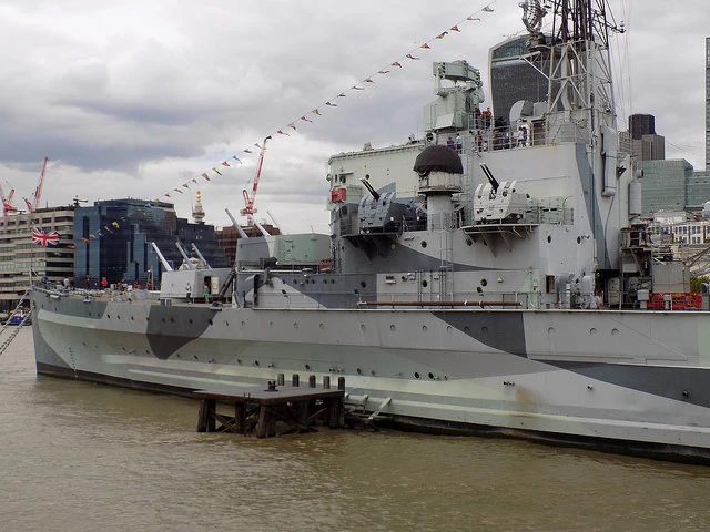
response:
<path fill-rule="evenodd" d="M 708 313 L 32 299 L 40 374 L 183 395 L 344 376 L 405 428 L 710 460 Z"/>

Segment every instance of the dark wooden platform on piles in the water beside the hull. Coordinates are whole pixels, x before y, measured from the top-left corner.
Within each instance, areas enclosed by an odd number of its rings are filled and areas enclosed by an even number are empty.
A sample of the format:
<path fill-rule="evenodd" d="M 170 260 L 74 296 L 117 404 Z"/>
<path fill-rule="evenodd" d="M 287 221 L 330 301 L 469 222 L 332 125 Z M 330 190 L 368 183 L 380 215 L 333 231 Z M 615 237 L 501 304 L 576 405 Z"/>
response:
<path fill-rule="evenodd" d="M 316 387 L 315 376 L 308 386 L 301 387 L 294 374 L 290 385 L 283 374 L 277 381 L 270 381 L 266 389 L 258 387 L 230 389 L 227 391 L 199 390 L 193 396 L 201 400 L 197 432 L 232 432 L 256 434 L 256 438 L 276 436 L 276 423 L 283 422 L 291 432 L 317 432 L 321 421 L 332 429 L 343 427 L 345 408 L 345 378 L 338 378 L 337 389 L 331 389 L 329 376 L 323 377 L 323 386 Z M 221 413 L 219 406 L 231 407 L 230 413 Z"/>

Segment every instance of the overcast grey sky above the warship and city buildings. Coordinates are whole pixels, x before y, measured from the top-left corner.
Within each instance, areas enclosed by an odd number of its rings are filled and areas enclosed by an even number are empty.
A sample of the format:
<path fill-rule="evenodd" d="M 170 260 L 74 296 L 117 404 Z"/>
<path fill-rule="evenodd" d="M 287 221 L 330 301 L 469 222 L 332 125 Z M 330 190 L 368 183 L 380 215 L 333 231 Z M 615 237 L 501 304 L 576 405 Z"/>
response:
<path fill-rule="evenodd" d="M 42 205 L 161 198 L 187 217 L 200 190 L 207 222 L 230 225 L 272 134 L 257 216 L 325 232 L 328 156 L 420 136 L 433 61 L 467 60 L 486 90 L 489 47 L 523 32 L 518 3 L 0 0 L 0 184 L 20 206 L 49 156 Z M 612 45 L 620 127 L 656 115 L 667 158 L 702 170 L 707 0 L 611 10 L 627 30 Z"/>

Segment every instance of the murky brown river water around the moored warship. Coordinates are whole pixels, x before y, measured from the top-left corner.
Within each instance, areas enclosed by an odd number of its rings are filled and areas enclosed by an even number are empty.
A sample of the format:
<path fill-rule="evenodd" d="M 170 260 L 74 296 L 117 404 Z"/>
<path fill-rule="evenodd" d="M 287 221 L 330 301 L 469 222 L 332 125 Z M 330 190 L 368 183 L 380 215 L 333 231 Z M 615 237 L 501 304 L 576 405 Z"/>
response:
<path fill-rule="evenodd" d="M 701 531 L 710 468 L 527 441 L 197 433 L 197 403 L 0 356 L 4 531 Z"/>

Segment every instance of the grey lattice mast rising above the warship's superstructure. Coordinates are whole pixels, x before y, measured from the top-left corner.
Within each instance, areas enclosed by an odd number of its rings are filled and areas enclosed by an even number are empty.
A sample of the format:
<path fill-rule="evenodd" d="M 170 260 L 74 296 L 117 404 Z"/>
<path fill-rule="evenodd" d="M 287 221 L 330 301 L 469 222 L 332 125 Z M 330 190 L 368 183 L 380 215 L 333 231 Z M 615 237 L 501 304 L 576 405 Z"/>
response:
<path fill-rule="evenodd" d="M 538 0 L 521 2 L 524 22 L 535 47 L 532 59 L 548 69 L 545 136 L 548 144 L 587 146 L 589 168 L 580 168 L 591 194 L 585 196 L 594 234 L 596 267 L 616 263 L 615 245 L 620 216 L 610 216 L 619 192 L 618 132 L 611 75 L 610 32 L 623 32 L 610 23 L 606 0 Z M 551 13 L 551 32 L 541 31 Z M 618 200 L 617 203 L 621 203 Z"/>

